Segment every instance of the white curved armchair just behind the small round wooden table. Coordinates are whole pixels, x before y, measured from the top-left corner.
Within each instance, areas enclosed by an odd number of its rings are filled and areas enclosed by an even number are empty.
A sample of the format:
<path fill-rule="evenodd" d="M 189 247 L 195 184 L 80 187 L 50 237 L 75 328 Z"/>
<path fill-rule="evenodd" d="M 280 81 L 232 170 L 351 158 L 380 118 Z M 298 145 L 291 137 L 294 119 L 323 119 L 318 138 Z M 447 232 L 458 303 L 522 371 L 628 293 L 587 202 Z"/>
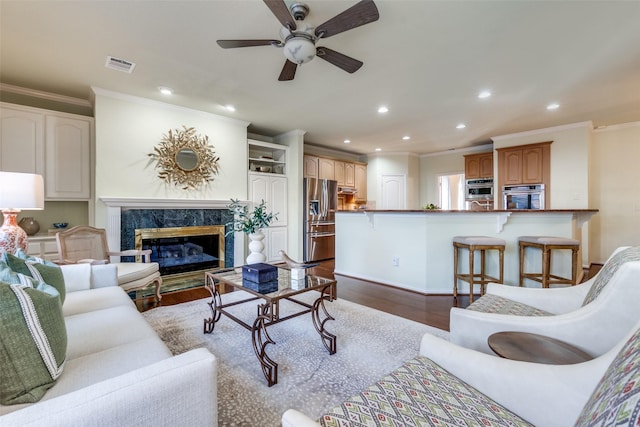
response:
<path fill-rule="evenodd" d="M 487 344 L 491 334 L 522 331 L 600 356 L 640 320 L 639 282 L 640 247 L 624 247 L 580 285 L 534 289 L 489 284 L 486 294 L 467 309 L 451 309 L 450 340 L 493 355 Z"/>

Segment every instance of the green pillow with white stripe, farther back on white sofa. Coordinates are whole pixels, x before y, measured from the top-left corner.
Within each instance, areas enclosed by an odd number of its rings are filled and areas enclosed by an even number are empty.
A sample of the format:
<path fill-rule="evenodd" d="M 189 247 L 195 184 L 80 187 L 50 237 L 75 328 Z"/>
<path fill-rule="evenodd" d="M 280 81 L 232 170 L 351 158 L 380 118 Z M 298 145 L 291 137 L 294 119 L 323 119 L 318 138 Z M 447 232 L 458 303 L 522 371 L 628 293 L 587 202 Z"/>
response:
<path fill-rule="evenodd" d="M 56 288 L 60 294 L 60 301 L 64 304 L 66 287 L 64 275 L 59 265 L 42 258 L 28 256 L 21 250 L 18 250 L 16 255 L 3 253 L 2 260 L 13 272 L 33 277 L 36 281 L 44 282 Z M 4 280 L 7 283 L 16 283 L 15 280 L 6 277 L 6 274 L 6 272 L 0 274 L 0 280 Z M 32 287 L 37 288 L 37 286 Z"/>

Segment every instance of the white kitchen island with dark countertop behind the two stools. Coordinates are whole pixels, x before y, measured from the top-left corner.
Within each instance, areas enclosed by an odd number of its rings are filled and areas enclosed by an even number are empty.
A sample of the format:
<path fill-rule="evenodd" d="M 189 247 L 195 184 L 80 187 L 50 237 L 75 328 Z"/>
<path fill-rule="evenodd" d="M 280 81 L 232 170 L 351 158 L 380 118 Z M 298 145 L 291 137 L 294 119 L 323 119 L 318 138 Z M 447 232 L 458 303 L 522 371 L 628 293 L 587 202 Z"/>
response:
<path fill-rule="evenodd" d="M 453 237 L 482 235 L 506 241 L 505 284 L 518 286 L 519 236 L 569 237 L 582 242 L 582 226 L 597 212 L 597 209 L 338 211 L 335 273 L 422 294 L 451 294 Z M 581 245 L 581 250 L 587 248 Z M 542 256 L 535 252 L 527 251 L 527 271 L 540 269 Z M 461 255 L 464 262 L 465 256 Z M 581 254 L 580 259 L 586 261 L 586 255 Z M 487 259 L 487 265 L 497 266 L 496 254 L 487 253 Z M 554 251 L 551 265 L 554 274 L 570 277 L 571 252 Z M 494 272 L 489 268 L 488 273 Z M 525 286 L 540 284 L 527 281 Z M 466 282 L 461 281 L 458 289 L 462 294 L 469 292 Z"/>

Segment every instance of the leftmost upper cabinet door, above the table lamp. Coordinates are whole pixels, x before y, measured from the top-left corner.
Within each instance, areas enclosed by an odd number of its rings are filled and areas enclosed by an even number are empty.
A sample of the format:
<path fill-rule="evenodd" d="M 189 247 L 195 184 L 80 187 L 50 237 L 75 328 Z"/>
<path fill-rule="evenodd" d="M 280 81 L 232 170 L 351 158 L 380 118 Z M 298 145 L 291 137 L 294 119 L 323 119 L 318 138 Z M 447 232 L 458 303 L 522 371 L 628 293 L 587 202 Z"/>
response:
<path fill-rule="evenodd" d="M 0 107 L 0 170 L 44 175 L 44 114 Z"/>

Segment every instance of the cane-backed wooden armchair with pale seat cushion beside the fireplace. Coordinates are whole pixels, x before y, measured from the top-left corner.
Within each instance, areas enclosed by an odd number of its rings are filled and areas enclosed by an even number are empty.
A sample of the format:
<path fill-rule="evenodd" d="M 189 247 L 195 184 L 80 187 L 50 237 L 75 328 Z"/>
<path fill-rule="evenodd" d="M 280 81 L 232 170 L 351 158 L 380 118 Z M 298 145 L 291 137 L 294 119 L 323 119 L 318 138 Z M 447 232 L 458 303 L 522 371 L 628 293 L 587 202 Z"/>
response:
<path fill-rule="evenodd" d="M 160 295 L 162 277 L 157 262 L 150 262 L 151 250 L 109 251 L 104 229 L 78 225 L 56 234 L 58 257 L 62 263 L 108 264 L 111 256 L 135 256 L 142 262 L 118 262 L 118 285 L 127 292 L 143 289 L 155 283 L 156 298 Z"/>

